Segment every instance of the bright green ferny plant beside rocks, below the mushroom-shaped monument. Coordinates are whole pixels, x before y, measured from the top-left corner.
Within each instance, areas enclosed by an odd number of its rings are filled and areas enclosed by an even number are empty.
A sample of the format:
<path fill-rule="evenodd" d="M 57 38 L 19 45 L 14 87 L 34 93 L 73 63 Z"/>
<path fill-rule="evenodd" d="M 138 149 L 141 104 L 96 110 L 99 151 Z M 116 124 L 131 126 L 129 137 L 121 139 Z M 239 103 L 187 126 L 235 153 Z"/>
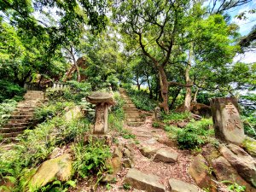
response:
<path fill-rule="evenodd" d="M 75 160 L 73 169 L 78 177 L 89 177 L 96 175 L 102 177 L 104 172 L 108 172 L 106 160 L 111 157 L 109 147 L 102 141 L 92 141 L 87 145 L 77 143 L 73 146 Z"/>

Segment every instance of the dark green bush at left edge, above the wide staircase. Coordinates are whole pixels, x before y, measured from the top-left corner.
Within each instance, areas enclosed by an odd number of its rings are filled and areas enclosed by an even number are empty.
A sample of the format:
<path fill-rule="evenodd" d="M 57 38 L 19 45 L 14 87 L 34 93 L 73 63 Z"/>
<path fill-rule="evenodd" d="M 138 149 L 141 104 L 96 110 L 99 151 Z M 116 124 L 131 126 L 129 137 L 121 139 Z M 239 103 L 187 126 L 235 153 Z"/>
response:
<path fill-rule="evenodd" d="M 24 95 L 25 90 L 18 84 L 6 80 L 0 80 L 0 102 L 5 99 L 15 99 L 19 101 Z"/>

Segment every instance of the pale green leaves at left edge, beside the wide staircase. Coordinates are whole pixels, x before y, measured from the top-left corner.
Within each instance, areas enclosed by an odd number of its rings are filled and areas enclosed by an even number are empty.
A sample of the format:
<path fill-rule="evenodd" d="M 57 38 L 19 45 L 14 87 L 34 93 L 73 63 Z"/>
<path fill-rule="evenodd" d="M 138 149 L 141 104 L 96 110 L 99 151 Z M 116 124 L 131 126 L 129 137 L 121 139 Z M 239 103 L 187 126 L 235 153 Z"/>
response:
<path fill-rule="evenodd" d="M 16 105 L 17 102 L 15 100 L 4 100 L 0 103 L 0 127 L 7 122 Z"/>

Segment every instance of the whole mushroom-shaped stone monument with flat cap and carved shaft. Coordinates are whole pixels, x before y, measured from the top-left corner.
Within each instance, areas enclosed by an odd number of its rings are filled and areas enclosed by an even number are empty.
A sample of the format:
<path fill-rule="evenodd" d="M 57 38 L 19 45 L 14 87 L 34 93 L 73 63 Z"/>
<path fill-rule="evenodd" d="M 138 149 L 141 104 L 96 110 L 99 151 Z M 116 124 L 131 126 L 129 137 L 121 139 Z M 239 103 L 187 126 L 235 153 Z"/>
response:
<path fill-rule="evenodd" d="M 93 133 L 102 135 L 108 132 L 108 108 L 113 105 L 113 96 L 109 93 L 95 92 L 86 97 L 87 102 L 96 104 Z"/>

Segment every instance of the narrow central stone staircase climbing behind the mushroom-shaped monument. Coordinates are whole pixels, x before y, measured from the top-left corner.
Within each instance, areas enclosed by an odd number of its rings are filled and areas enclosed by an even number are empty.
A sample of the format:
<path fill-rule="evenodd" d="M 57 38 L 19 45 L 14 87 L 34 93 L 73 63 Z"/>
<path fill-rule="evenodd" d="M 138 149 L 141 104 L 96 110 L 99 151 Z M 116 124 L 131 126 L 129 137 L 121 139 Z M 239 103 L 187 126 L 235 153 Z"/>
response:
<path fill-rule="evenodd" d="M 121 97 L 125 100 L 124 111 L 125 121 L 130 126 L 140 126 L 144 124 L 144 119 L 140 117 L 140 112 L 135 107 L 129 96 L 127 96 L 125 89 L 120 88 Z"/>

